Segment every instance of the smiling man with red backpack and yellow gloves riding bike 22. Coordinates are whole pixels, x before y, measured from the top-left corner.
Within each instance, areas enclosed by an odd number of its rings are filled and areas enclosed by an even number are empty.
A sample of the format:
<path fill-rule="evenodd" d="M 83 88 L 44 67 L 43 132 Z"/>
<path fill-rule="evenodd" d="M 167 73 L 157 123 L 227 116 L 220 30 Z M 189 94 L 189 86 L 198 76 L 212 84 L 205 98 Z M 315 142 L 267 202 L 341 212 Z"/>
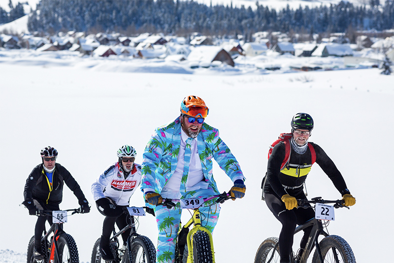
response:
<path fill-rule="evenodd" d="M 286 156 L 286 146 L 285 142 L 279 142 L 272 149 L 272 154 L 268 159 L 267 181 L 264 187 L 265 202 L 282 224 L 279 234 L 281 263 L 290 262 L 296 225 L 301 225 L 315 217 L 312 207 L 294 209 L 297 207 L 297 199 L 306 199 L 303 184 L 313 164 L 311 151 L 315 151 L 316 163 L 331 179 L 335 188 L 342 195 L 345 205 L 351 206 L 356 203 L 356 199 L 350 194 L 345 180 L 335 164 L 319 145 L 308 142 L 314 126 L 312 117 L 306 113 L 297 113 L 292 119 L 291 126 L 293 137 L 286 142 L 291 145 L 289 163 L 281 169 Z M 312 147 L 309 147 L 308 144 L 311 144 Z M 311 228 L 304 230 L 300 250 L 296 257 L 297 261 L 300 260 L 300 255 L 306 246 Z"/>

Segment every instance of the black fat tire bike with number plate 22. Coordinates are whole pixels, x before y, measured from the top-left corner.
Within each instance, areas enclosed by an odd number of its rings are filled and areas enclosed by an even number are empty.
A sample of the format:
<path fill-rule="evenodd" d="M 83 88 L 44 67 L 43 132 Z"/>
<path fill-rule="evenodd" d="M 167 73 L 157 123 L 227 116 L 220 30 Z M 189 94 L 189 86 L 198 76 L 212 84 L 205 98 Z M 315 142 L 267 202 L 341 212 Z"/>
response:
<path fill-rule="evenodd" d="M 312 207 L 316 209 L 316 203 L 332 203 L 334 208 L 346 207 L 349 209 L 349 207 L 343 205 L 343 200 L 330 201 L 323 200 L 321 197 L 315 197 L 312 200 L 298 199 L 297 202 L 298 209 L 311 207 L 309 204 L 314 204 Z M 328 234 L 328 224 L 329 221 L 323 222 L 323 220 L 313 218 L 296 228 L 294 234 L 312 226 L 304 251 L 300 257 L 295 256 L 292 252 L 290 263 L 306 263 L 314 246 L 316 249 L 312 263 L 356 263 L 353 250 L 348 242 L 338 235 Z M 324 228 L 326 228 L 326 231 Z M 324 238 L 319 242 L 320 235 L 323 235 Z M 279 245 L 277 237 L 265 239 L 256 253 L 255 263 L 279 263 Z"/>

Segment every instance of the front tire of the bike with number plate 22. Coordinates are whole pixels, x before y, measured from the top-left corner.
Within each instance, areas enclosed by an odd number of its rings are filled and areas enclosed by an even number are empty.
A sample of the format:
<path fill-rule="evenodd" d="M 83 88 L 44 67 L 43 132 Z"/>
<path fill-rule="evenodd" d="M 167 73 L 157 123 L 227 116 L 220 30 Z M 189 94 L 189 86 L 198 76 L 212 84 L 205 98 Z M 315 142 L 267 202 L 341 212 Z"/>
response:
<path fill-rule="evenodd" d="M 324 263 L 356 263 L 352 248 L 345 239 L 338 235 L 329 235 L 319 243 Z M 312 263 L 321 263 L 315 250 Z"/>

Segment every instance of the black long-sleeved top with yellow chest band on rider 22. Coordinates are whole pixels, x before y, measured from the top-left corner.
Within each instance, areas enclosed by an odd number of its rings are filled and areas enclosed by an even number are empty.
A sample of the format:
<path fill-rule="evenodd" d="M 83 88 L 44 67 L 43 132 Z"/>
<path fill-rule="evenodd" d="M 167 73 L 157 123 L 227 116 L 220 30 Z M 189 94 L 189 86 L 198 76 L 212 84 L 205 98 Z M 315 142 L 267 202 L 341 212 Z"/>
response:
<path fill-rule="evenodd" d="M 328 155 L 323 151 L 323 149 L 313 143 L 312 144 L 316 152 L 316 163 L 323 169 L 323 171 L 328 175 L 334 184 L 335 188 L 341 193 L 350 194 L 349 190 L 346 187 L 345 180 L 343 179 L 341 173 L 336 168 L 335 164 L 328 157 Z M 287 169 L 286 167 L 283 172 L 280 171 L 280 166 L 285 158 L 285 144 L 284 142 L 280 142 L 272 149 L 272 154 L 268 159 L 268 167 L 267 167 L 267 182 L 265 183 L 264 193 L 276 194 L 278 197 L 282 197 L 283 195 L 289 194 L 293 197 L 298 196 L 300 191 L 303 191 L 302 184 L 304 183 L 306 176 L 289 176 L 285 174 L 284 171 Z M 308 148 L 304 154 L 297 154 L 293 148 L 291 147 L 290 154 L 290 164 L 312 164 L 312 154 L 310 149 Z M 296 189 L 286 189 L 283 187 L 297 187 Z"/>

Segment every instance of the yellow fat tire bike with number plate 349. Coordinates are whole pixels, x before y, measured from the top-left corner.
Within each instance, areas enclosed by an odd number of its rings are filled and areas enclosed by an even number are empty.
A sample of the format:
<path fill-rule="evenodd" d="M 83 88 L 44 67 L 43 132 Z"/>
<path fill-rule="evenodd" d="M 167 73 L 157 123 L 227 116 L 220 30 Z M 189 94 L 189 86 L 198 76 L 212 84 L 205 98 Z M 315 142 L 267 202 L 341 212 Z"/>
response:
<path fill-rule="evenodd" d="M 224 203 L 230 198 L 230 194 L 224 192 L 204 198 L 201 205 L 208 201 L 211 201 L 210 205 Z M 180 207 L 179 203 L 174 203 L 179 201 L 180 199 L 163 199 L 159 205 L 165 205 L 168 209 L 174 206 Z M 215 263 L 212 234 L 201 225 L 200 216 L 198 207 L 194 208 L 191 219 L 179 229 L 175 243 L 175 263 Z M 191 226 L 193 228 L 189 230 Z"/>

